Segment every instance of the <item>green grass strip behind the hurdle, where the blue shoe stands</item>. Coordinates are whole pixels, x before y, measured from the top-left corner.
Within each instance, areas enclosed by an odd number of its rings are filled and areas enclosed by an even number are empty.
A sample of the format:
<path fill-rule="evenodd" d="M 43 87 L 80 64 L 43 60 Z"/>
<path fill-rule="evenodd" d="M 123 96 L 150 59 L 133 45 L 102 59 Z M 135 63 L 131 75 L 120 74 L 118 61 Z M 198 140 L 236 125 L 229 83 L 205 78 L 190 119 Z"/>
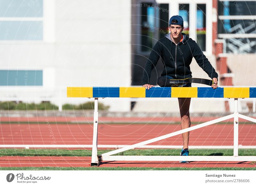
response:
<path fill-rule="evenodd" d="M 98 150 L 98 154 L 111 150 Z M 179 156 L 180 149 L 135 149 L 116 155 Z M 233 149 L 190 149 L 193 156 L 233 156 Z M 255 156 L 256 149 L 239 149 L 239 156 Z M 0 149 L 0 156 L 92 156 L 91 150 Z"/>

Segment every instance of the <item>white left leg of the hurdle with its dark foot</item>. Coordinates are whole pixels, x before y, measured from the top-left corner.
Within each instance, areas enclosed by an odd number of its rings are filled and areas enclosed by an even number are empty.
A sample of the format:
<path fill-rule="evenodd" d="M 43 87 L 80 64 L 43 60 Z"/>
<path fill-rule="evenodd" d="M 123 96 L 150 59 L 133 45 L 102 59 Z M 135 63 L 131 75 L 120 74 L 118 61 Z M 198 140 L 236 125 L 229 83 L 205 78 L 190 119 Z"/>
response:
<path fill-rule="evenodd" d="M 92 162 L 91 166 L 99 166 L 100 161 L 97 156 L 98 145 L 98 98 L 94 99 L 94 114 L 93 114 L 93 139 L 92 139 Z"/>

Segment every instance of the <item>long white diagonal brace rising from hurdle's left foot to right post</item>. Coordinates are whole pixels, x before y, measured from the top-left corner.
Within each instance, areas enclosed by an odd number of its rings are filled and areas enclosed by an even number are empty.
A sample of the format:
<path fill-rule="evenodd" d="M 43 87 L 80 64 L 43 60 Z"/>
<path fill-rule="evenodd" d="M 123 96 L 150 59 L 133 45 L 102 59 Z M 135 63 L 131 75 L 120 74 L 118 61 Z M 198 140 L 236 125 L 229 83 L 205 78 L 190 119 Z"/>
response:
<path fill-rule="evenodd" d="M 214 124 L 214 123 L 218 123 L 218 122 L 221 122 L 221 121 L 233 118 L 233 117 L 234 117 L 234 114 L 230 114 L 230 115 L 218 118 L 218 119 L 214 119 L 214 120 L 209 121 L 209 122 L 205 122 L 205 123 L 201 123 L 201 124 L 198 124 L 196 126 L 193 126 L 193 127 L 189 127 L 187 129 L 178 130 L 178 131 L 172 132 L 170 134 L 166 134 L 166 135 L 163 135 L 163 136 L 159 136 L 157 138 L 149 139 L 149 140 L 146 140 L 146 141 L 143 141 L 143 142 L 140 142 L 140 143 L 136 143 L 134 145 L 130 145 L 130 146 L 127 146 L 127 147 L 124 147 L 124 148 L 121 148 L 121 149 L 116 149 L 114 151 L 110 151 L 108 153 L 104 153 L 104 154 L 101 154 L 101 155 L 102 156 L 110 156 L 110 155 L 113 155 L 113 154 L 116 154 L 116 153 L 121 153 L 123 151 L 127 151 L 127 150 L 130 150 L 130 149 L 142 146 L 142 145 L 147 145 L 149 143 L 153 143 L 153 142 L 165 139 L 165 138 L 170 138 L 172 136 L 176 136 L 176 135 L 179 135 L 179 134 L 182 134 L 184 132 L 191 131 L 191 130 L 199 129 L 199 128 L 202 128 L 202 127 Z"/>

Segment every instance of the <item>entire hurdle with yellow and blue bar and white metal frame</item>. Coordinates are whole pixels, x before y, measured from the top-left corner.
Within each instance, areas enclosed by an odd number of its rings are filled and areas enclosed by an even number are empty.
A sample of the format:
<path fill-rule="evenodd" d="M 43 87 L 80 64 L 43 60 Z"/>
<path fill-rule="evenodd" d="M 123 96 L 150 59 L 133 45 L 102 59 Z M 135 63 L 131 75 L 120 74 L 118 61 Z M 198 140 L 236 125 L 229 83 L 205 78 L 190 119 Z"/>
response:
<path fill-rule="evenodd" d="M 256 98 L 256 87 L 67 87 L 67 97 L 94 98 L 93 140 L 91 166 L 101 161 L 255 161 L 256 156 L 238 156 L 238 119 L 253 123 L 256 119 L 238 113 L 238 99 Z M 99 98 L 234 98 L 234 113 L 187 129 L 128 145 L 107 153 L 97 154 L 98 148 L 98 99 Z M 147 145 L 184 132 L 196 130 L 214 123 L 234 118 L 233 156 L 118 156 L 113 155 Z"/>

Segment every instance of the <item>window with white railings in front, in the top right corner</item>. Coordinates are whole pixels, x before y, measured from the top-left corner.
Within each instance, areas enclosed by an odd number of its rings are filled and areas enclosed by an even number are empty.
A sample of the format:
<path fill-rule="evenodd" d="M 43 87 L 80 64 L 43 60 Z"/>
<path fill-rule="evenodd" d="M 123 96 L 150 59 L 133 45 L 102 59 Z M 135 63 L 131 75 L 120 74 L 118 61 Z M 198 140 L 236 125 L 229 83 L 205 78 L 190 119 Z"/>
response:
<path fill-rule="evenodd" d="M 218 3 L 218 33 L 224 53 L 256 53 L 256 1 Z"/>

